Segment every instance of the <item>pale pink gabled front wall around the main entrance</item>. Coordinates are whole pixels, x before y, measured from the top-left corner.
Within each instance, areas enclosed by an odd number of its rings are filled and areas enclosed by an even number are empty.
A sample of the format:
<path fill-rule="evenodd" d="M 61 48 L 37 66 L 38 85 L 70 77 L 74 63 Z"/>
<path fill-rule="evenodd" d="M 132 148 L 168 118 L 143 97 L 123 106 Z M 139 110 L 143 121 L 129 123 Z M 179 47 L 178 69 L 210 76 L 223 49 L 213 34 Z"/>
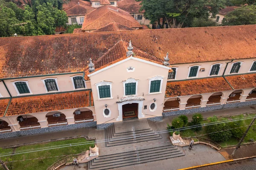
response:
<path fill-rule="evenodd" d="M 127 72 L 126 68 L 135 67 L 134 72 Z M 115 122 L 116 118 L 119 116 L 118 101 L 124 95 L 124 86 L 122 81 L 126 81 L 128 78 L 134 78 L 138 81 L 137 94 L 140 97 L 145 98 L 143 101 L 144 105 L 147 105 L 147 109 L 142 108 L 142 112 L 145 115 L 145 118 L 154 116 L 161 116 L 163 111 L 163 102 L 166 90 L 167 75 L 168 69 L 161 68 L 159 66 L 153 66 L 148 63 L 143 63 L 141 61 L 128 60 L 124 63 L 120 63 L 116 66 L 113 66 L 110 69 L 106 69 L 103 72 L 99 72 L 90 77 L 93 91 L 93 99 L 95 105 L 95 111 L 97 116 L 97 124 L 102 124 L 108 121 L 108 123 Z M 149 78 L 154 76 L 163 76 L 163 84 L 161 93 L 158 94 L 148 94 L 149 90 Z M 112 83 L 112 99 L 99 99 L 96 85 L 102 81 L 110 81 Z M 156 99 L 157 109 L 154 112 L 150 112 L 150 104 L 153 103 L 153 99 Z M 111 109 L 111 117 L 105 118 L 103 116 L 103 109 L 105 109 L 105 104 L 108 105 L 108 108 Z M 148 115 L 147 115 L 148 114 Z M 112 120 L 113 119 L 113 120 Z M 111 121 L 110 121 L 111 120 Z"/>

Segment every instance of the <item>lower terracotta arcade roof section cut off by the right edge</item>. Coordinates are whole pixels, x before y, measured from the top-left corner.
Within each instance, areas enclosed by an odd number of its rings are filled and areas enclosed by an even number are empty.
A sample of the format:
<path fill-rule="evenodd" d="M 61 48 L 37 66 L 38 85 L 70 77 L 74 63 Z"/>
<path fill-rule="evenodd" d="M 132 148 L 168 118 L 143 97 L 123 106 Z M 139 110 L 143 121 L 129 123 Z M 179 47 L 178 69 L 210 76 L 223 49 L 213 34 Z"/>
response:
<path fill-rule="evenodd" d="M 256 88 L 256 73 L 227 75 L 225 78 L 235 90 Z"/>

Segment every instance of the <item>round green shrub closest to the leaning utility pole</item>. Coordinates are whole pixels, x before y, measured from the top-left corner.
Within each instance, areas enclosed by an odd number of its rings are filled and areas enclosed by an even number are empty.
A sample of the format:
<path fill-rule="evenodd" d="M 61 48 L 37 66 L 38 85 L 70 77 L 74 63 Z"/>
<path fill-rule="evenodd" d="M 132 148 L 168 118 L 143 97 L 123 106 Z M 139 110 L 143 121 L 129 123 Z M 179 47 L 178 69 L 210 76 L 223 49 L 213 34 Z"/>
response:
<path fill-rule="evenodd" d="M 241 115 L 241 118 L 242 117 L 243 116 Z M 238 139 L 240 139 L 243 136 L 246 130 L 246 127 L 243 127 L 243 126 L 245 126 L 244 120 L 229 122 L 229 127 L 230 129 L 232 129 L 230 130 L 232 135 Z M 241 127 L 241 128 L 237 128 L 237 127 Z M 237 128 L 237 129 L 234 129 L 234 128 Z"/>

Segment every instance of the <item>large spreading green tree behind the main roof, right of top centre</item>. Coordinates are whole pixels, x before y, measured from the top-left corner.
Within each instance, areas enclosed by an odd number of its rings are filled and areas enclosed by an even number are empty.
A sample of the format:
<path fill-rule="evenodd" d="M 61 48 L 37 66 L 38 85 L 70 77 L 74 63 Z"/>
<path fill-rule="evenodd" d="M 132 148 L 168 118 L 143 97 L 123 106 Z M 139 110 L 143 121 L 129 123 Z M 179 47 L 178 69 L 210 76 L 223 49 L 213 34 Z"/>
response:
<path fill-rule="evenodd" d="M 225 0 L 143 0 L 141 4 L 151 23 L 162 19 L 170 28 L 181 28 L 191 26 L 194 17 L 207 19 L 209 13 L 214 16 L 224 8 Z"/>

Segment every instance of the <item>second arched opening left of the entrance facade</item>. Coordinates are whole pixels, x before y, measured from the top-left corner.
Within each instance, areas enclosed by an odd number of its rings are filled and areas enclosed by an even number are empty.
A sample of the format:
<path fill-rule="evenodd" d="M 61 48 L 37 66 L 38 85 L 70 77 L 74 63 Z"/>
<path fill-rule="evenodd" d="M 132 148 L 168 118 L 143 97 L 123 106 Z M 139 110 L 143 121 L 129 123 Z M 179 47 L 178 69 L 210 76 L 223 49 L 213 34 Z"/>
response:
<path fill-rule="evenodd" d="M 66 115 L 62 112 L 49 112 L 46 114 L 48 126 L 67 124 Z"/>

